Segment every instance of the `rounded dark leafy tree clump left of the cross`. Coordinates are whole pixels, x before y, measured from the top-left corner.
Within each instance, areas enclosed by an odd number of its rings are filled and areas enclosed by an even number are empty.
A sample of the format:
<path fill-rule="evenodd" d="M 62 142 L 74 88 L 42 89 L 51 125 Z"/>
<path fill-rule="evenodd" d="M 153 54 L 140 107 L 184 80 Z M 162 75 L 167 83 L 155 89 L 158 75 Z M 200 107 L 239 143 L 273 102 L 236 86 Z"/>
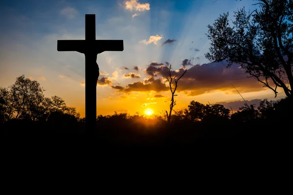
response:
<path fill-rule="evenodd" d="M 62 113 L 79 119 L 80 114 L 73 107 L 67 107 L 65 101 L 57 96 L 44 97 L 45 90 L 36 80 L 16 78 L 8 88 L 0 88 L 0 119 L 47 120 L 52 113 Z"/>

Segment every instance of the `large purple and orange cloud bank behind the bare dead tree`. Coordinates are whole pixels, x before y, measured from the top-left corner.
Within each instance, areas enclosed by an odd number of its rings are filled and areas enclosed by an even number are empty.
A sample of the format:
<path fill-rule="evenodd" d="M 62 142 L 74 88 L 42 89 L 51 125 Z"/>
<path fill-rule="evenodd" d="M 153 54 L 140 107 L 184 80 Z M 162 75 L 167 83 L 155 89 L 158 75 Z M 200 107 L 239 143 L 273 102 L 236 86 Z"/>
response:
<path fill-rule="evenodd" d="M 185 70 L 186 74 L 179 80 L 177 92 L 183 92 L 188 96 L 198 96 L 205 93 L 220 91 L 230 91 L 237 94 L 233 84 L 240 93 L 257 92 L 266 90 L 256 79 L 247 78 L 243 70 L 238 64 L 233 64 L 230 68 L 226 68 L 227 62 L 223 63 L 206 63 L 196 64 L 188 70 L 181 67 L 178 70 L 171 70 L 172 77 L 179 78 Z M 169 76 L 167 72 L 169 68 L 166 65 L 150 64 L 144 72 L 148 75 L 143 82 L 134 82 L 122 87 L 119 91 L 169 91 L 166 81 Z"/>

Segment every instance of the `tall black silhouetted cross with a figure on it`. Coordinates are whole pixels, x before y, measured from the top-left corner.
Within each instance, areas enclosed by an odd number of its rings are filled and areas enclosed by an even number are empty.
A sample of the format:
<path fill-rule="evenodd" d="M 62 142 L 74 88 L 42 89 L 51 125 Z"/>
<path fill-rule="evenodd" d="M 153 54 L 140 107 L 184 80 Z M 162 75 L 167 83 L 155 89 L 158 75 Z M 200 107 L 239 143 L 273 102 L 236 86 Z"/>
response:
<path fill-rule="evenodd" d="M 97 81 L 100 76 L 97 55 L 123 51 L 123 40 L 96 40 L 96 15 L 85 14 L 85 40 L 57 40 L 57 51 L 77 51 L 85 57 L 85 131 L 97 129 Z"/>

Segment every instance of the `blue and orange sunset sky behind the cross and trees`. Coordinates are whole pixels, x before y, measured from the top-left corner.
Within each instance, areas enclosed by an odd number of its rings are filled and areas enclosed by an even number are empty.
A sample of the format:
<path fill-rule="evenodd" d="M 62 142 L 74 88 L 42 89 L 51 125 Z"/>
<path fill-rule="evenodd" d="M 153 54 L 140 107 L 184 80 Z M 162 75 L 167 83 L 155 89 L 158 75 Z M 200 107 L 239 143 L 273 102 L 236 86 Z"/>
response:
<path fill-rule="evenodd" d="M 58 52 L 57 40 L 84 39 L 85 14 L 96 15 L 96 39 L 123 39 L 124 51 L 98 54 L 97 114 L 154 114 L 168 110 L 167 71 L 178 81 L 175 111 L 201 103 L 276 100 L 272 90 L 210 63 L 208 25 L 253 0 L 1 0 L 0 86 L 21 75 L 37 80 L 46 97 L 59 96 L 84 117 L 84 54 Z M 233 86 L 231 85 L 233 84 Z M 237 109 L 237 108 L 234 108 Z M 165 112 L 164 112 L 165 113 Z"/>

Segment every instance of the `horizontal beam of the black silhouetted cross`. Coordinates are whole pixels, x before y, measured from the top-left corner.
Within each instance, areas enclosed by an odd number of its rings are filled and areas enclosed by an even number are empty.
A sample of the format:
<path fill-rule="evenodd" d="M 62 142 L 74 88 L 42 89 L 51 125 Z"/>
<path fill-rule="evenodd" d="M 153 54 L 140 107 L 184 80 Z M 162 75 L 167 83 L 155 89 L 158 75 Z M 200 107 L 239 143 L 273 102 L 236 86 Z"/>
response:
<path fill-rule="evenodd" d="M 104 51 L 123 51 L 124 46 L 123 40 L 57 40 L 57 50 L 102 53 Z"/>

